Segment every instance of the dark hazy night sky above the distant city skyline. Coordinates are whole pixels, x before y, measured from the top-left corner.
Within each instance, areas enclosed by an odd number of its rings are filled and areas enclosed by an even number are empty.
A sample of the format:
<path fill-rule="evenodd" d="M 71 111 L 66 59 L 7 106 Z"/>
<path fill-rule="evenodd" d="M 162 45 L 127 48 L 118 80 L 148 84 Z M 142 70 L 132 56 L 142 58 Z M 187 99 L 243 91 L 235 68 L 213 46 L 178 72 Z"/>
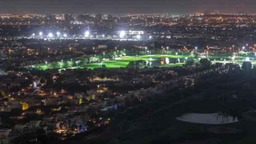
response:
<path fill-rule="evenodd" d="M 256 0 L 0 0 L 0 13 L 256 13 Z M 242 6 L 243 5 L 243 6 Z"/>

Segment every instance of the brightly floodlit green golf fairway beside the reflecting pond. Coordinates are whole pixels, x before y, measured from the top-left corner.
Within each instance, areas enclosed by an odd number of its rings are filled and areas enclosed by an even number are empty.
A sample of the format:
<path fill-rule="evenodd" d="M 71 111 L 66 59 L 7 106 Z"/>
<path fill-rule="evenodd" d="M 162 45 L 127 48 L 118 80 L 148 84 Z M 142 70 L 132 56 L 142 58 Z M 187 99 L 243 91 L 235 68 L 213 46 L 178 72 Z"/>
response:
<path fill-rule="evenodd" d="M 183 60 L 185 59 L 186 56 L 177 56 L 177 59 Z M 195 56 L 188 56 L 188 59 L 193 59 Z M 94 69 L 94 68 L 99 68 L 102 67 L 102 64 L 105 64 L 107 68 L 120 68 L 120 67 L 126 67 L 130 61 L 138 61 L 138 60 L 145 60 L 145 61 L 161 61 L 161 59 L 174 59 L 176 61 L 176 55 L 141 55 L 141 56 L 125 56 L 122 58 L 119 58 L 117 60 L 111 60 L 111 61 L 104 61 L 102 63 L 91 63 L 91 64 L 84 64 L 81 66 L 78 66 L 76 68 L 88 68 L 88 69 Z M 179 64 L 160 64 L 159 62 L 159 67 L 174 67 L 174 66 L 181 66 L 184 63 L 179 63 Z"/>

